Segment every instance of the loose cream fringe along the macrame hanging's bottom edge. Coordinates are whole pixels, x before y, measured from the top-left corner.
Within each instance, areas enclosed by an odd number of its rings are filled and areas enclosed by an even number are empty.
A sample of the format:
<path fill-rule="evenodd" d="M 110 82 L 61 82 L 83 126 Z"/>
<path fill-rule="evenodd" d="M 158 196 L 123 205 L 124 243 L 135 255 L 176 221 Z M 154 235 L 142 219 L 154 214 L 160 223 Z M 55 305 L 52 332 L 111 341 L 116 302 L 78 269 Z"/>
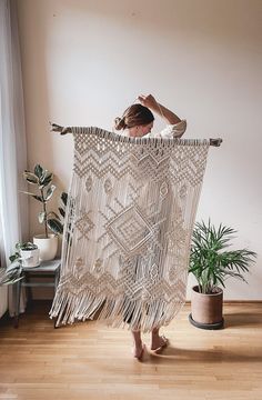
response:
<path fill-rule="evenodd" d="M 167 326 L 183 307 L 184 301 L 167 304 L 163 300 L 147 303 L 132 301 L 124 296 L 109 299 L 104 296 L 82 292 L 75 296 L 71 292 L 58 291 L 50 310 L 50 318 L 57 318 L 56 327 L 72 324 L 75 321 L 104 321 L 113 328 L 124 328 L 151 332 L 154 328 Z"/>

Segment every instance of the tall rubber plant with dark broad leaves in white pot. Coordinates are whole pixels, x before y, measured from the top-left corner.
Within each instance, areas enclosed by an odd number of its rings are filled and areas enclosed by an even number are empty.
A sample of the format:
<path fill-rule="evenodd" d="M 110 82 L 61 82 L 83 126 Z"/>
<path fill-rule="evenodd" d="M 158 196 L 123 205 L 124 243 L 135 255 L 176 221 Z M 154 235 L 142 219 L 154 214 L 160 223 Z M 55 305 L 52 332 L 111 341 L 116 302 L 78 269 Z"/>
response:
<path fill-rule="evenodd" d="M 33 237 L 33 243 L 40 249 L 40 260 L 54 259 L 58 250 L 58 236 L 62 233 L 62 219 L 64 217 L 64 209 L 59 208 L 60 216 L 53 211 L 48 210 L 48 202 L 51 200 L 56 186 L 52 183 L 53 173 L 44 169 L 40 164 L 34 166 L 33 172 L 24 171 L 23 178 L 31 186 L 37 187 L 38 192 L 23 193 L 31 196 L 33 199 L 42 204 L 42 209 L 38 214 L 38 220 L 43 224 L 44 233 Z M 67 193 L 61 194 L 61 201 L 66 207 Z"/>

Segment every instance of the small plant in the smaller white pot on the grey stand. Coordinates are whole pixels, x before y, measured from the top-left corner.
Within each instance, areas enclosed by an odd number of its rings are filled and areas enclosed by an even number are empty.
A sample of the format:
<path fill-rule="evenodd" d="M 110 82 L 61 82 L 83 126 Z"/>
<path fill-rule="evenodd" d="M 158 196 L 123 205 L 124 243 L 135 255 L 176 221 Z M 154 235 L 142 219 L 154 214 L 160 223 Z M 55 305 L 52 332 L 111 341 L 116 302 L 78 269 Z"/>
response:
<path fill-rule="evenodd" d="M 39 248 L 31 242 L 17 243 L 16 252 L 9 257 L 11 262 L 19 261 L 22 267 L 33 268 L 39 266 Z"/>

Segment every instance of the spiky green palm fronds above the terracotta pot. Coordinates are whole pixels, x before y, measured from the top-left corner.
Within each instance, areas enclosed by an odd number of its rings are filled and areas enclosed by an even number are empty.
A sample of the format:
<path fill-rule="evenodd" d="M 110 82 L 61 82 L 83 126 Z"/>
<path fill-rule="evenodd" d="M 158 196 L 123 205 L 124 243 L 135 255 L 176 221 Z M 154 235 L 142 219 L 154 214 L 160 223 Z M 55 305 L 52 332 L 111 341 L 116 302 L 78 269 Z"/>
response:
<path fill-rule="evenodd" d="M 211 221 L 195 223 L 192 234 L 190 268 L 199 283 L 199 292 L 211 294 L 216 287 L 225 287 L 225 280 L 236 278 L 244 282 L 243 272 L 254 262 L 256 253 L 248 249 L 225 250 L 236 231 L 230 227 L 219 226 Z"/>

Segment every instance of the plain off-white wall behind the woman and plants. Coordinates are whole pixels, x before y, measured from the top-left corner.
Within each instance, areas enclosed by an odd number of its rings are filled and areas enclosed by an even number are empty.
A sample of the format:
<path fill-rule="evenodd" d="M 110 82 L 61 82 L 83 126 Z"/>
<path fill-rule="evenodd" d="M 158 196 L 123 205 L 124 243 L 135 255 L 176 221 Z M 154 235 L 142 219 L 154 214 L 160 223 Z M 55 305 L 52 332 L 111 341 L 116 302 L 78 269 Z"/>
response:
<path fill-rule="evenodd" d="M 239 231 L 259 253 L 249 284 L 226 299 L 262 299 L 260 0 L 18 0 L 29 167 L 50 168 L 67 188 L 72 138 L 48 121 L 100 126 L 153 93 L 188 119 L 187 138 L 211 148 L 198 220 Z M 161 122 L 157 123 L 157 128 Z M 31 203 L 31 233 L 40 231 Z M 191 279 L 190 283 L 191 286 Z"/>

